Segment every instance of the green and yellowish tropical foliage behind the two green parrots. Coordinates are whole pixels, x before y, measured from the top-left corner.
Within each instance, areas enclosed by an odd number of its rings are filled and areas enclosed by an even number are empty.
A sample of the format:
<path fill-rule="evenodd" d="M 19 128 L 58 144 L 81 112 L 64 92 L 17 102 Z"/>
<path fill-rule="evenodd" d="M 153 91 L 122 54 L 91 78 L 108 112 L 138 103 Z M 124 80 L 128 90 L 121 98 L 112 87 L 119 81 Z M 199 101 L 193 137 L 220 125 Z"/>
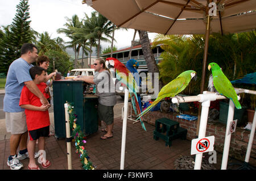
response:
<path fill-rule="evenodd" d="M 209 38 L 208 64 L 216 62 L 220 65 L 230 81 L 243 77 L 247 73 L 253 73 L 256 69 L 255 35 L 255 31 L 229 35 L 213 33 Z M 204 36 L 164 36 L 159 34 L 153 42 L 153 45 L 158 44 L 161 44 L 161 48 L 165 50 L 161 54 L 163 60 L 159 63 L 160 77 L 163 78 L 164 84 L 185 70 L 195 70 L 198 79 L 195 83 L 192 82 L 183 94 L 199 94 Z M 206 77 L 209 75 L 210 71 L 207 71 Z M 204 90 L 207 90 L 207 85 L 208 79 L 205 79 Z"/>

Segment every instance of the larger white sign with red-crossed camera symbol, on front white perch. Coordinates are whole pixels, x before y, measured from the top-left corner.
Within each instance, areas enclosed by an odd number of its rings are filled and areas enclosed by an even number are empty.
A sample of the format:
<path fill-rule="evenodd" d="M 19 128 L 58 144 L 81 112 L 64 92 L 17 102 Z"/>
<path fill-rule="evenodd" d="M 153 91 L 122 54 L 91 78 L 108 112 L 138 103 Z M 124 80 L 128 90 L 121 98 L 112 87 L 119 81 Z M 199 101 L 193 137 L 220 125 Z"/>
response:
<path fill-rule="evenodd" d="M 191 141 L 191 154 L 205 153 L 213 151 L 214 136 L 197 138 Z"/>

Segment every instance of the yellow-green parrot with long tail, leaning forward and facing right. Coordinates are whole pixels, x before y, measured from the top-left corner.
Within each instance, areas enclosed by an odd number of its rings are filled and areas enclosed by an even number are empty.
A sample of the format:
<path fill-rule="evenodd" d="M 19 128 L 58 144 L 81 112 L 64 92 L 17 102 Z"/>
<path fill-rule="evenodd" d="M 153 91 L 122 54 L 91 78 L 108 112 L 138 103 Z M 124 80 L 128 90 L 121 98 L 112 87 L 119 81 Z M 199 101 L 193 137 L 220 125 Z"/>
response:
<path fill-rule="evenodd" d="M 179 94 L 181 91 L 183 91 L 187 87 L 188 83 L 191 81 L 192 78 L 196 79 L 196 71 L 187 70 L 179 74 L 178 77 L 176 77 L 174 80 L 169 82 L 167 85 L 163 86 L 163 88 L 160 90 L 158 97 L 155 99 L 155 101 L 138 116 L 141 117 L 144 115 L 144 113 L 147 113 L 148 111 L 150 111 L 163 98 L 174 97 L 175 95 Z"/>

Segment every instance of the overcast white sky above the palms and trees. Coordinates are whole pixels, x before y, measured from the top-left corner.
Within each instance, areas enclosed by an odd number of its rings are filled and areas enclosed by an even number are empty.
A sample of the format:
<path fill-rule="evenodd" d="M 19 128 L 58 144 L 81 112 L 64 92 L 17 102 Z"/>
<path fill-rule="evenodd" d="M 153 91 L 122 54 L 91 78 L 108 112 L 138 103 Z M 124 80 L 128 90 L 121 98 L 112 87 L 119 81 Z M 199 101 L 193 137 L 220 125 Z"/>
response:
<path fill-rule="evenodd" d="M 0 6 L 0 26 L 7 26 L 13 22 L 13 18 L 16 14 L 16 5 L 19 4 L 19 0 L 1 0 Z M 65 41 L 69 39 L 64 34 L 56 32 L 58 28 L 64 28 L 64 24 L 67 22 L 65 17 L 71 18 L 74 14 L 77 14 L 79 18 L 84 18 L 86 13 L 90 16 L 94 11 L 92 7 L 86 4 L 82 5 L 82 0 L 29 0 L 30 5 L 30 26 L 37 32 L 43 33 L 47 31 L 52 38 L 57 36 L 62 37 Z M 130 46 L 133 39 L 134 30 L 129 29 L 118 30 L 115 32 L 115 46 L 117 48 Z M 148 33 L 150 39 L 153 39 L 156 33 Z M 139 35 L 135 39 L 139 39 Z M 102 43 L 102 46 L 108 47 L 110 43 Z"/>

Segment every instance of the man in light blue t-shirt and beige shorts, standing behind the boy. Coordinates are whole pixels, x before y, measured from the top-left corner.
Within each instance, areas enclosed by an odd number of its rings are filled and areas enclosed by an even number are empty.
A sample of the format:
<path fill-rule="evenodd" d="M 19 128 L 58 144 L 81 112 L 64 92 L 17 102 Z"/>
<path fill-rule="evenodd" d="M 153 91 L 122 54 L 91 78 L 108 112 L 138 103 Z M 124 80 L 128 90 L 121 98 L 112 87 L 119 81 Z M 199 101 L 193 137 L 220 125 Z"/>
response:
<path fill-rule="evenodd" d="M 29 69 L 38 57 L 38 50 L 35 45 L 26 43 L 20 49 L 20 58 L 13 61 L 9 67 L 6 85 L 5 98 L 3 99 L 3 111 L 5 111 L 6 130 L 11 132 L 10 137 L 10 156 L 7 165 L 11 170 L 22 169 L 23 165 L 20 159 L 28 158 L 27 153 L 27 124 L 24 109 L 19 107 L 20 93 L 23 86 L 27 88 L 38 98 L 42 104 L 50 106 L 47 99 L 38 89 L 30 77 Z M 19 146 L 19 153 L 16 150 Z"/>

